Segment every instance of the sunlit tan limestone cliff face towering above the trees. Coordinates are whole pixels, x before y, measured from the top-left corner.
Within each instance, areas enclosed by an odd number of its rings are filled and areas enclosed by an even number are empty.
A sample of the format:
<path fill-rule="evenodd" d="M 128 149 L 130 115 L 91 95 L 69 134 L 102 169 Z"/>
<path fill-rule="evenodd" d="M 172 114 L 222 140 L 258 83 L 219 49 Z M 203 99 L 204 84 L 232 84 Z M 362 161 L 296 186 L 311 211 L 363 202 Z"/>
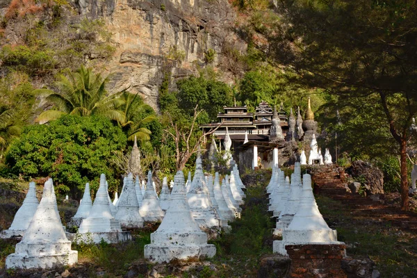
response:
<path fill-rule="evenodd" d="M 85 17 L 104 19 L 115 51 L 110 59 L 95 61 L 95 67 L 111 74 L 112 91 L 129 89 L 156 109 L 165 74 L 174 84 L 206 66 L 209 49 L 216 53 L 210 63 L 214 67 L 221 67 L 226 58 L 224 47 L 245 51 L 234 33 L 236 13 L 227 0 L 72 0 L 65 13 L 68 24 Z M 24 43 L 19 24 L 28 20 L 8 23 L 5 37 L 11 44 Z M 92 65 L 90 60 L 85 63 Z M 222 75 L 224 81 L 234 78 L 227 70 Z"/>

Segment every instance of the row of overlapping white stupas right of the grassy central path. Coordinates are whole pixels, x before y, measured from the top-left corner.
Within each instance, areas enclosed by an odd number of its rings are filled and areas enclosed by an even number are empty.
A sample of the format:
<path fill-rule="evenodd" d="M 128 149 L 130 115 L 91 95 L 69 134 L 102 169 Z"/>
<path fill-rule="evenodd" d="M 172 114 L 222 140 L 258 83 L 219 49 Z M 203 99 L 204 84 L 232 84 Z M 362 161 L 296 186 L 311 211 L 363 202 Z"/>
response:
<path fill-rule="evenodd" d="M 300 163 L 295 163 L 291 183 L 289 177 L 278 167 L 272 169 L 268 184 L 269 211 L 277 217 L 274 234 L 282 236 L 275 240 L 273 251 L 286 256 L 286 245 L 344 244 L 337 241 L 336 230 L 329 228 L 323 219 L 311 188 L 311 176 L 301 179 Z"/>

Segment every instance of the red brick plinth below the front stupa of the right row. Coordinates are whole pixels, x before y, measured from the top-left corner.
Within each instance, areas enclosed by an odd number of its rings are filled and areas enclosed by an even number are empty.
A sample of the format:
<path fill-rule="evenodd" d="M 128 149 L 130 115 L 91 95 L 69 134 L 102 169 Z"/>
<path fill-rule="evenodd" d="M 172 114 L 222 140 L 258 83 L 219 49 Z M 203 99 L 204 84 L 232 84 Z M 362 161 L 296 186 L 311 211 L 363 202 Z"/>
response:
<path fill-rule="evenodd" d="M 290 277 L 347 277 L 341 269 L 343 244 L 286 245 L 285 249 L 291 259 Z"/>

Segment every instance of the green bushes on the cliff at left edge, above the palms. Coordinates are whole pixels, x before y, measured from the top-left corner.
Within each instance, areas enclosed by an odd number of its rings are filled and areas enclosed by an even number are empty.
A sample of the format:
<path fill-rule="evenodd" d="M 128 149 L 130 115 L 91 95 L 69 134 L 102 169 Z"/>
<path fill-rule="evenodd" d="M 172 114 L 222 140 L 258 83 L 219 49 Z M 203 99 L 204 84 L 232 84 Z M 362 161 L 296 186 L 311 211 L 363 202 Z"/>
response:
<path fill-rule="evenodd" d="M 31 76 L 45 74 L 54 69 L 57 63 L 53 51 L 25 45 L 3 46 L 0 50 L 0 60 L 6 67 L 26 72 Z"/>

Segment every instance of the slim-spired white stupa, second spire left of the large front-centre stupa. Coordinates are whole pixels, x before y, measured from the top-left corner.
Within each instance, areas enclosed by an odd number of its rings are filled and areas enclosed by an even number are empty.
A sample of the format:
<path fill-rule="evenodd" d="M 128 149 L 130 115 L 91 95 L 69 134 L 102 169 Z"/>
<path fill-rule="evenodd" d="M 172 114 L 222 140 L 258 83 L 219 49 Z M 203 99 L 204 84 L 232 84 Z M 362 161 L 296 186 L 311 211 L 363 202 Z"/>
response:
<path fill-rule="evenodd" d="M 152 171 L 150 170 L 148 172 L 145 195 L 143 195 L 142 206 L 140 206 L 139 212 L 145 222 L 161 222 L 163 215 L 165 215 L 159 205 L 154 186 L 152 186 Z"/>

